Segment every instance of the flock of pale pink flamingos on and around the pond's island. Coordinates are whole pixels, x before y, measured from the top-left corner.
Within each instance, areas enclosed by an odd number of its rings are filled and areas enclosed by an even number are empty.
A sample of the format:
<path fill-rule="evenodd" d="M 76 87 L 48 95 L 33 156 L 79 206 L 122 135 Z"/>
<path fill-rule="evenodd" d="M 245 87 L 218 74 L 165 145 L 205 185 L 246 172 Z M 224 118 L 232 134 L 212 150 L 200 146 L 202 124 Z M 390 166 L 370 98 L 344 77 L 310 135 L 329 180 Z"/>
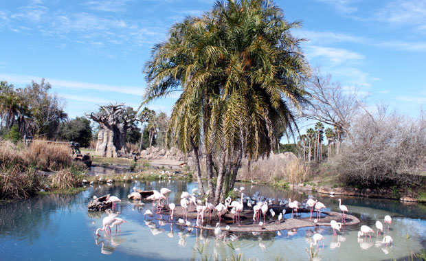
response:
<path fill-rule="evenodd" d="M 252 196 L 245 195 L 245 188 L 241 187 L 240 189 L 234 190 L 238 198 L 235 201 L 232 201 L 232 198 L 227 197 L 224 201 L 218 203 L 218 205 L 213 205 L 212 203 L 207 201 L 208 196 L 201 197 L 198 193 L 197 189 L 192 190 L 192 193 L 189 192 L 182 192 L 180 196 L 180 207 L 181 207 L 181 218 L 177 220 L 177 225 L 181 226 L 187 226 L 187 227 L 202 227 L 204 223 L 207 225 L 210 224 L 212 214 L 216 213 L 218 217 L 218 222 L 216 223 L 216 227 L 214 228 L 214 234 L 217 238 L 220 238 L 223 233 L 226 233 L 227 231 L 231 230 L 231 227 L 229 225 L 226 225 L 224 229 L 221 228 L 221 223 L 223 216 L 225 214 L 232 214 L 232 223 L 236 224 L 238 226 L 241 225 L 241 217 L 240 214 L 243 212 L 245 207 L 252 209 L 253 211 L 253 222 L 258 223 L 258 225 L 263 226 L 267 223 L 267 216 L 269 220 L 273 219 L 276 216 L 276 209 L 273 209 L 271 205 L 276 205 L 275 203 L 278 202 L 278 205 L 283 207 L 282 212 L 278 214 L 277 220 L 279 223 L 283 222 L 285 220 L 284 216 L 286 214 L 285 207 L 288 207 L 291 209 L 291 218 L 295 218 L 298 216 L 298 209 L 304 208 L 309 209 L 309 220 L 313 218 L 313 210 L 317 212 L 316 218 L 314 220 L 315 226 L 320 225 L 318 222 L 322 218 L 322 209 L 326 209 L 326 205 L 321 203 L 320 201 L 317 201 L 313 196 L 309 196 L 306 200 L 304 200 L 302 203 L 298 201 L 291 201 L 291 198 L 287 200 L 280 199 L 280 198 L 267 198 L 265 196 L 260 196 L 259 192 L 256 192 Z M 168 188 L 161 188 L 161 190 L 153 190 L 153 194 L 151 196 L 148 196 L 145 198 L 145 200 L 152 201 L 152 207 L 151 209 L 146 209 L 144 212 L 144 218 L 151 218 L 155 216 L 155 214 L 161 214 L 161 209 L 164 207 L 168 207 L 169 214 L 168 214 L 168 220 L 170 220 L 172 223 L 174 223 L 174 214 L 175 209 L 177 208 L 177 205 L 175 203 L 168 203 L 168 195 L 172 192 L 172 190 Z M 209 193 L 209 192 L 207 192 Z M 115 207 L 116 202 L 120 202 L 120 198 L 117 198 L 115 196 L 111 196 L 110 200 L 113 201 L 113 208 Z M 339 209 L 342 212 L 342 219 L 341 222 L 337 222 L 337 220 L 331 220 L 330 221 L 330 227 L 333 229 L 333 236 L 337 236 L 337 232 L 341 232 L 342 226 L 346 225 L 346 213 L 348 212 L 348 207 L 346 205 L 342 205 L 341 198 L 338 199 L 339 201 Z M 139 206 L 144 206 L 144 203 L 142 201 L 139 201 Z M 156 207 L 156 210 L 154 211 L 154 207 Z M 194 225 L 188 221 L 188 212 L 192 212 L 192 209 L 197 211 L 197 220 L 195 221 Z M 248 210 L 248 209 L 247 209 Z M 208 216 L 208 221 L 205 221 Z M 263 216 L 263 217 L 262 217 Z M 262 221 L 260 221 L 262 219 Z M 149 221 L 148 221 L 149 222 Z M 109 212 L 109 215 L 106 216 L 102 220 L 102 228 L 99 228 L 96 230 L 96 236 L 100 236 L 99 231 L 106 231 L 106 235 L 111 234 L 111 228 L 116 227 L 115 231 L 120 232 L 120 225 L 123 223 L 126 223 L 126 220 L 123 220 L 122 218 L 117 218 L 117 214 L 112 214 Z M 392 217 L 389 215 L 386 215 L 383 218 L 383 223 L 385 225 L 388 225 L 388 233 L 390 229 L 390 225 L 392 224 Z M 381 236 L 383 233 L 383 223 L 380 220 L 377 220 L 375 223 L 376 229 L 377 229 L 377 238 Z M 324 229 L 320 229 L 324 230 Z M 293 230 L 292 230 L 293 231 Z M 319 249 L 320 243 L 322 243 L 322 248 L 324 249 L 324 236 L 322 236 L 321 231 L 317 231 L 318 233 L 315 233 L 312 235 L 312 240 L 310 242 L 311 249 L 314 246 L 317 246 L 317 249 Z M 293 232 L 291 232 L 293 233 Z M 297 233 L 297 229 L 295 229 L 295 232 Z M 371 227 L 368 227 L 368 225 L 361 225 L 357 236 L 358 241 L 360 242 L 360 246 L 363 247 L 363 244 L 366 245 L 367 236 L 369 238 L 372 238 L 372 234 L 374 234 L 374 230 Z M 289 232 L 288 232 L 289 234 Z M 278 235 L 281 235 L 281 233 L 278 231 Z M 340 237 L 340 236 L 338 236 Z M 381 241 L 381 245 L 391 245 L 393 242 L 392 236 L 390 235 L 384 235 L 383 239 Z M 335 243 L 335 242 L 334 242 Z M 340 241 L 339 241 L 340 243 Z M 334 245 L 333 245 L 334 246 Z M 330 243 L 331 247 L 331 243 Z M 368 247 L 370 247 L 370 244 L 368 244 Z M 367 247 L 367 248 L 368 248 Z"/>

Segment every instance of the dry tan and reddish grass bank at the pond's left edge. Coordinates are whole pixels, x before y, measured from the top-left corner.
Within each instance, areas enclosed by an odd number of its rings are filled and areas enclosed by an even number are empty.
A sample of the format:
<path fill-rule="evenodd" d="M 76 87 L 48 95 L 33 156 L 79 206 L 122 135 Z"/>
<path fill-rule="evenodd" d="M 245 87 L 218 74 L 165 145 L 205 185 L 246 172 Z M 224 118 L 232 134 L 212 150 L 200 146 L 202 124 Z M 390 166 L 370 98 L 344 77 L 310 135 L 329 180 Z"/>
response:
<path fill-rule="evenodd" d="M 67 144 L 33 141 L 24 146 L 0 140 L 0 199 L 27 198 L 45 188 L 74 188 L 81 184 L 84 170 Z"/>

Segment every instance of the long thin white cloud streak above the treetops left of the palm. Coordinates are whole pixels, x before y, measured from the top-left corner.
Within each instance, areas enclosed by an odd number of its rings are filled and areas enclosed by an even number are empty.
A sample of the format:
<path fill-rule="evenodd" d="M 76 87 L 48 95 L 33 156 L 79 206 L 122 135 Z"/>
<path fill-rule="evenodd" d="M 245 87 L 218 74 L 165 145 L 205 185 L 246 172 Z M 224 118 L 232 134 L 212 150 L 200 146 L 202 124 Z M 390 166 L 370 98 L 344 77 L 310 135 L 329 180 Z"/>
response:
<path fill-rule="evenodd" d="M 1 80 L 7 80 L 13 84 L 29 84 L 32 80 L 40 81 L 41 77 L 37 76 L 23 76 L 23 75 L 14 75 L 14 74 L 0 74 Z M 139 95 L 142 97 L 144 94 L 145 87 L 133 87 L 133 86 L 117 86 L 109 84 L 96 84 L 90 82 L 77 82 L 69 80 L 58 80 L 52 78 L 45 78 L 47 82 L 52 84 L 52 87 L 55 88 L 66 88 L 70 90 L 96 90 L 96 91 L 108 91 L 113 93 L 124 93 L 131 95 Z"/>

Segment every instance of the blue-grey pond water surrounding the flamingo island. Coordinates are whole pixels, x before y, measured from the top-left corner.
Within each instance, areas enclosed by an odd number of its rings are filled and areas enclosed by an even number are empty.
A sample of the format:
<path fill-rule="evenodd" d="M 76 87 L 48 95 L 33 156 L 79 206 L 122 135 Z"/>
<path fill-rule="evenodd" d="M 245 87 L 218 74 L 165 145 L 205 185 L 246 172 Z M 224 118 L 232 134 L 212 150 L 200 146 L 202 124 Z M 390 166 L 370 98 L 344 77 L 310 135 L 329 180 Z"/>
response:
<path fill-rule="evenodd" d="M 237 184 L 238 186 L 240 184 Z M 302 201 L 307 194 L 278 190 L 263 185 L 243 184 L 246 194 L 256 191 L 273 198 Z M 304 227 L 290 231 L 227 234 L 216 239 L 213 231 L 188 229 L 170 225 L 154 218 L 144 220 L 144 207 L 139 201 L 128 201 L 133 186 L 142 190 L 170 188 L 170 201 L 179 203 L 182 191 L 192 191 L 196 183 L 185 181 L 147 181 L 117 183 L 89 188 L 76 195 L 37 196 L 0 206 L 0 260 L 225 260 L 243 253 L 244 258 L 256 260 L 310 260 L 309 242 L 313 233 L 324 237 L 324 249 L 314 248 L 315 260 L 408 260 L 411 251 L 418 253 L 426 247 L 426 206 L 406 205 L 385 199 L 341 197 L 349 213 L 361 223 L 346 226 L 333 236 L 330 227 Z M 120 218 L 127 223 L 121 232 L 107 237 L 95 235 L 102 227 L 105 212 L 87 212 L 87 203 L 94 195 L 109 194 L 122 198 L 117 205 Z M 337 197 L 314 194 L 328 208 L 339 212 Z M 376 230 L 376 220 L 392 216 L 389 235 L 394 242 L 386 247 L 372 238 L 359 240 L 361 225 Z M 164 217 L 164 216 L 163 216 Z M 286 214 L 285 218 L 291 218 Z M 385 227 L 385 231 L 387 227 Z M 200 253 L 201 252 L 201 253 Z"/>

